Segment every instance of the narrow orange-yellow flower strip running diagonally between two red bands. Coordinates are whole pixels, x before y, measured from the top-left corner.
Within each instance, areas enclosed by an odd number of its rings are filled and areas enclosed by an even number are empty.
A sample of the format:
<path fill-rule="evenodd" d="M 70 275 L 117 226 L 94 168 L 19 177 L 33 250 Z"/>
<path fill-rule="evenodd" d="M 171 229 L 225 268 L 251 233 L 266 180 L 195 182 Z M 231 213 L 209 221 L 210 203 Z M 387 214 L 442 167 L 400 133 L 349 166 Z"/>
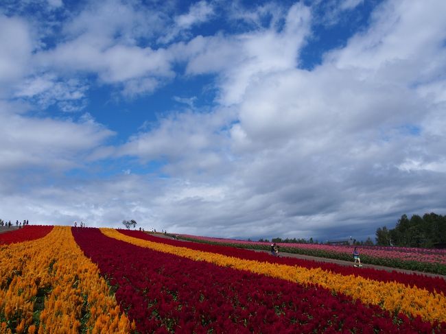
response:
<path fill-rule="evenodd" d="M 108 237 L 159 252 L 174 254 L 178 257 L 207 261 L 215 265 L 247 270 L 303 285 L 316 284 L 336 293 L 351 296 L 353 299 L 359 299 L 364 304 L 379 305 L 388 311 L 402 311 L 412 316 L 420 315 L 423 320 L 430 322 L 434 320 L 446 321 L 446 298 L 443 293 L 430 293 L 425 289 L 407 287 L 401 283 L 386 283 L 353 275 L 344 276 L 320 268 L 307 269 L 278 263 L 237 259 L 212 252 L 169 246 L 165 243 L 128 237 L 111 228 L 101 228 L 101 231 Z"/>

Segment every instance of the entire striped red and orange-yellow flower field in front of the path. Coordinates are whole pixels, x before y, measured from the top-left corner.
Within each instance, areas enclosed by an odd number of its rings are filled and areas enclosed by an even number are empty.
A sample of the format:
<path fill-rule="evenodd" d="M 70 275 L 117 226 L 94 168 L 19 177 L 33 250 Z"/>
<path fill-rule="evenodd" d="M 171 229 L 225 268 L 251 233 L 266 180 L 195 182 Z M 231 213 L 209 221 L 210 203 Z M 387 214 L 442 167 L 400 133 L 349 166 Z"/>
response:
<path fill-rule="evenodd" d="M 39 228 L 0 245 L 1 333 L 446 333 L 443 278 Z"/>

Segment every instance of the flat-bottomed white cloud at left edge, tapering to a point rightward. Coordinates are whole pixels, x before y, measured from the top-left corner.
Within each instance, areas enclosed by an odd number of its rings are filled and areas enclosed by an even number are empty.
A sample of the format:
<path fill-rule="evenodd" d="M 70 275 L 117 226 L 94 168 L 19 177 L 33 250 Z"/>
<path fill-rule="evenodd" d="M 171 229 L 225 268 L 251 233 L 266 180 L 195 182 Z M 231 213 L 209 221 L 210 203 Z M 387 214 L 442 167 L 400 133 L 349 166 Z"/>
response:
<path fill-rule="evenodd" d="M 91 120 L 75 123 L 29 117 L 9 107 L 3 105 L 0 112 L 0 123 L 8 124 L 0 143 L 0 169 L 5 175 L 34 167 L 48 171 L 82 167 L 84 156 L 113 135 Z"/>

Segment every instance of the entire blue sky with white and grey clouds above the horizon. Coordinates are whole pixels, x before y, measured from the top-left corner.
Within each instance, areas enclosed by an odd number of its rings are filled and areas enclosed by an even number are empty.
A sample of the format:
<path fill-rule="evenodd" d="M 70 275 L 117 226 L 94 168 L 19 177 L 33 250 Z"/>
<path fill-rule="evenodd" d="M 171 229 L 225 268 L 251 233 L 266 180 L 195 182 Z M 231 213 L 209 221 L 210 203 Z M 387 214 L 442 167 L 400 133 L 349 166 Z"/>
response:
<path fill-rule="evenodd" d="M 325 240 L 444 215 L 445 16 L 3 0 L 0 218 Z"/>

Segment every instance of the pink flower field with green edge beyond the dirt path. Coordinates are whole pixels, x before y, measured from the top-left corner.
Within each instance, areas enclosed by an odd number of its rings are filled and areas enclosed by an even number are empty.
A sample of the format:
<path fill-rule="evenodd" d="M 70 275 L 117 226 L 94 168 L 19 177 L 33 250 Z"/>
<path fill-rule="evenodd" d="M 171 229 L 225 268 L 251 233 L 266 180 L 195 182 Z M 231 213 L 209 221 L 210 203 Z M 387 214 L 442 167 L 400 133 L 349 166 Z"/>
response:
<path fill-rule="evenodd" d="M 180 235 L 180 237 L 185 240 L 209 243 L 212 245 L 257 250 L 270 249 L 269 242 L 220 239 L 195 235 Z M 351 246 L 331 246 L 316 243 L 277 244 L 283 252 L 351 261 Z M 446 250 L 360 246 L 360 253 L 361 259 L 366 263 L 446 275 Z"/>

